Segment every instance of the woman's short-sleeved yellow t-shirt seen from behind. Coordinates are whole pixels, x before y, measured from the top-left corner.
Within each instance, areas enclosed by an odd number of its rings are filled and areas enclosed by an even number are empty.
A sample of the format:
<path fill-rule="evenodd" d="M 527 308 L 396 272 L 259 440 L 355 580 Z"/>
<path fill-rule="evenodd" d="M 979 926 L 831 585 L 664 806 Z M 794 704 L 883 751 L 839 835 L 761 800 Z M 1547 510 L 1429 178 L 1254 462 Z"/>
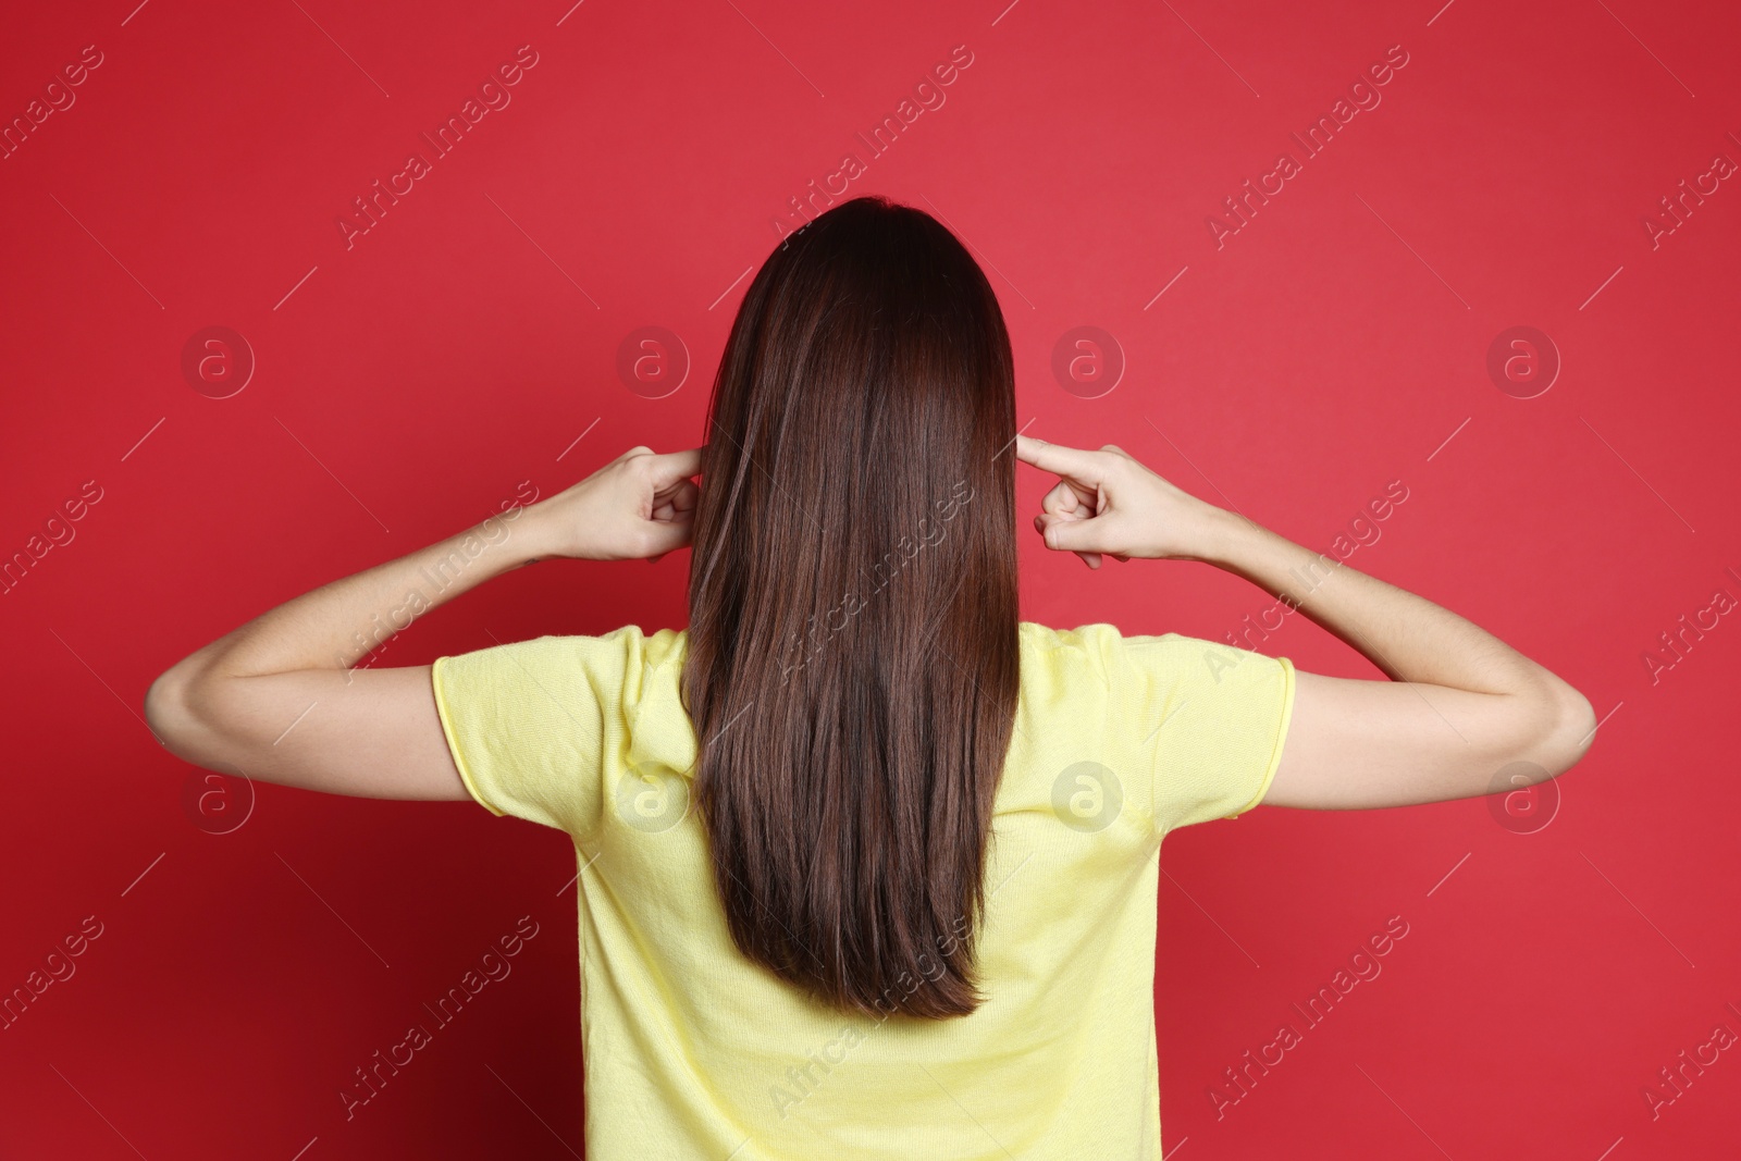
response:
<path fill-rule="evenodd" d="M 1020 1161 L 1161 1156 L 1161 837 L 1255 806 L 1294 667 L 1112 625 L 1022 621 L 970 1017 L 829 1010 L 731 943 L 677 695 L 686 632 L 538 637 L 434 667 L 447 745 L 496 815 L 568 832 L 587 1156 Z"/>

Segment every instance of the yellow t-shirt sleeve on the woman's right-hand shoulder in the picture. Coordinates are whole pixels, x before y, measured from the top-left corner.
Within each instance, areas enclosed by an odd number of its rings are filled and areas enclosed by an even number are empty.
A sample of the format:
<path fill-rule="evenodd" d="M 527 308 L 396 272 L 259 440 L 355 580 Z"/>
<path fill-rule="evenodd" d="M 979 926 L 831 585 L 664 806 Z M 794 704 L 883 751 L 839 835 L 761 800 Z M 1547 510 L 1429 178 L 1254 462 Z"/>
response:
<path fill-rule="evenodd" d="M 1198 637 L 1107 642 L 1114 712 L 1140 731 L 1160 834 L 1257 806 L 1281 762 L 1294 663 Z"/>

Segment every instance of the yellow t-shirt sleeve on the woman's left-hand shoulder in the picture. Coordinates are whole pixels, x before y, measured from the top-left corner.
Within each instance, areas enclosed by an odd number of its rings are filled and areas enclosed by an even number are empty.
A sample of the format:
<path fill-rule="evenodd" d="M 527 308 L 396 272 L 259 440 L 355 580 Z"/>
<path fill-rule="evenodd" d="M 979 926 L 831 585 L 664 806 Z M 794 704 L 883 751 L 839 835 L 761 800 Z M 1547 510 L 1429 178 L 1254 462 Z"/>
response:
<path fill-rule="evenodd" d="M 430 681 L 465 789 L 493 815 L 576 837 L 599 825 L 609 754 L 627 745 L 635 627 L 437 658 Z"/>

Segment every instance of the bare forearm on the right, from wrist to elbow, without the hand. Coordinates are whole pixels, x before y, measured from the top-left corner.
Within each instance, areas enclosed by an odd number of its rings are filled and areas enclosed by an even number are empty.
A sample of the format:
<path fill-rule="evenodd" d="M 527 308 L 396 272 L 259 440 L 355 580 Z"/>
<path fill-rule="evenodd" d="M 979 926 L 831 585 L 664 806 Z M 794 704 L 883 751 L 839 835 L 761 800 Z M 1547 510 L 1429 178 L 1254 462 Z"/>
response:
<path fill-rule="evenodd" d="M 1208 562 L 1301 609 L 1393 681 L 1471 693 L 1576 698 L 1551 670 L 1426 597 L 1222 513 Z"/>

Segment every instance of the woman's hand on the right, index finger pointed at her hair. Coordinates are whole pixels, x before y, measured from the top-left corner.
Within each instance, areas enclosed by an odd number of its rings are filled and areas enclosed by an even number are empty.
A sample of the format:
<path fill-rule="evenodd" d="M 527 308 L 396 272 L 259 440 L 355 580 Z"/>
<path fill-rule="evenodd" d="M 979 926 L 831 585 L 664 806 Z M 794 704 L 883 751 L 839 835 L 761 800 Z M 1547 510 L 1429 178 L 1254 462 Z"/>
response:
<path fill-rule="evenodd" d="M 1102 555 L 1210 560 L 1226 534 L 1226 510 L 1163 480 L 1112 444 L 1086 451 L 1017 435 L 1015 456 L 1059 477 L 1034 517 L 1046 548 L 1074 552 L 1092 569 Z"/>

